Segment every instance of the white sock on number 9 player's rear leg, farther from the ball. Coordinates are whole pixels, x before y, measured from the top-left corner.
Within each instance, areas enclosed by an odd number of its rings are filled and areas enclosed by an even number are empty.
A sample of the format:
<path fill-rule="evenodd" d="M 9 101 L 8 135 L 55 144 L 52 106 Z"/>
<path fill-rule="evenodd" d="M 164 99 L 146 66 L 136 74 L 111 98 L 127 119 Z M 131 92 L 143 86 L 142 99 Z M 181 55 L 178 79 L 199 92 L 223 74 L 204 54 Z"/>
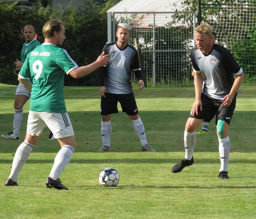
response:
<path fill-rule="evenodd" d="M 17 182 L 19 172 L 21 168 L 24 166 L 26 160 L 28 159 L 34 147 L 35 145 L 30 144 L 26 140 L 24 140 L 24 142 L 22 142 L 20 146 L 17 148 L 12 161 L 12 170 L 9 176 L 9 178 L 12 179 L 13 182 Z"/>

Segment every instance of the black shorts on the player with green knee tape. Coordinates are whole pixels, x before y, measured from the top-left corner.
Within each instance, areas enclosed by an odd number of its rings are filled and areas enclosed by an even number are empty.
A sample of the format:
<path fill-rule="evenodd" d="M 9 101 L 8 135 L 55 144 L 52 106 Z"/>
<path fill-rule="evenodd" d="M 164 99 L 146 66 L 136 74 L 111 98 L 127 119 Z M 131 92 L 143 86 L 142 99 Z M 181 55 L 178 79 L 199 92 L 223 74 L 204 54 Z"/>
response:
<path fill-rule="evenodd" d="M 205 94 L 201 94 L 201 101 L 203 104 L 203 111 L 198 108 L 198 115 L 189 115 L 190 118 L 203 119 L 206 122 L 210 122 L 216 115 L 215 124 L 217 125 L 218 120 L 224 120 L 230 123 L 233 112 L 236 108 L 236 97 L 233 98 L 232 103 L 228 107 L 221 107 L 220 105 L 224 102 L 221 99 L 214 99 Z"/>

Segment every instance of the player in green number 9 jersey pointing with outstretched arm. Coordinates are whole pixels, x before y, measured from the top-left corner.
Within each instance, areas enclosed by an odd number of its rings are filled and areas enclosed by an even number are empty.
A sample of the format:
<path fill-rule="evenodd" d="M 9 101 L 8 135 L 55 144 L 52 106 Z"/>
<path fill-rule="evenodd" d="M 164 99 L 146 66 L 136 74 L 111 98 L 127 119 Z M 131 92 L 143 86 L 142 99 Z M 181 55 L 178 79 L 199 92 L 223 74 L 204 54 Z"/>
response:
<path fill-rule="evenodd" d="M 55 19 L 47 21 L 43 27 L 43 34 L 44 43 L 28 54 L 19 73 L 20 83 L 28 91 L 32 90 L 30 111 L 27 135 L 15 153 L 11 174 L 5 186 L 18 185 L 17 179 L 21 168 L 38 142 L 43 129 L 48 126 L 60 142 L 61 149 L 54 159 L 52 171 L 46 179 L 46 186 L 67 189 L 61 184 L 59 176 L 76 149 L 76 140 L 64 102 L 64 74 L 74 78 L 83 77 L 106 65 L 110 54 L 102 53 L 92 64 L 78 68 L 67 51 L 59 48 L 66 39 L 65 27 L 61 21 Z M 29 81 L 30 78 L 33 84 Z"/>

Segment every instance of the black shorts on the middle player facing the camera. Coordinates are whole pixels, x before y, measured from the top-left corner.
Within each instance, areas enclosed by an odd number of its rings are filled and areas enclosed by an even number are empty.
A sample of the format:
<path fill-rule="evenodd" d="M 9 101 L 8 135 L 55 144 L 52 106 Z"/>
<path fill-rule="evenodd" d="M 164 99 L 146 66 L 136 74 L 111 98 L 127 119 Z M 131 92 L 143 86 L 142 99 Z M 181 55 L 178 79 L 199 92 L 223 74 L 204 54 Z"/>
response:
<path fill-rule="evenodd" d="M 105 96 L 106 97 L 101 96 L 101 102 L 100 102 L 101 115 L 118 113 L 117 101 L 121 104 L 123 113 L 126 113 L 127 115 L 131 115 L 131 116 L 138 114 L 138 108 L 137 108 L 133 93 L 128 93 L 128 94 L 105 93 Z"/>

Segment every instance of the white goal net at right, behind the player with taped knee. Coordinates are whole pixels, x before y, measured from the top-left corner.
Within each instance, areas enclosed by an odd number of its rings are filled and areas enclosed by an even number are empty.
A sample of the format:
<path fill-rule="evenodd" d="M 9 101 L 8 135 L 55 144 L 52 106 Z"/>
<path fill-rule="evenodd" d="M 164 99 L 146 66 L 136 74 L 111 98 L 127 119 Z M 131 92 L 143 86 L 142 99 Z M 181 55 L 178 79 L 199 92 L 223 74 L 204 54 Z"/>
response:
<path fill-rule="evenodd" d="M 228 48 L 236 61 L 256 81 L 256 0 L 236 0 L 225 3 L 198 1 L 198 21 L 209 23 L 217 35 L 218 44 Z"/>

